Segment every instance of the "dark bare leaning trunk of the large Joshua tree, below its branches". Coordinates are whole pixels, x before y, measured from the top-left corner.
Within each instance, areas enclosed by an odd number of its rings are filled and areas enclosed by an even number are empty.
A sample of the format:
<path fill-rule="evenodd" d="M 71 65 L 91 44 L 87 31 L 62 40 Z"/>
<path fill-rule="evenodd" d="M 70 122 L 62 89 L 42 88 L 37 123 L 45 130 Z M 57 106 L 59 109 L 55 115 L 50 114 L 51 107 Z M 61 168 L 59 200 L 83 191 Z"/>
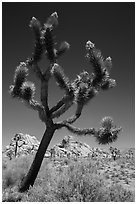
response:
<path fill-rule="evenodd" d="M 55 132 L 56 128 L 54 125 L 51 125 L 50 127 L 47 127 L 43 138 L 41 140 L 41 143 L 39 145 L 38 151 L 36 153 L 36 156 L 34 158 L 34 161 L 29 169 L 28 174 L 25 176 L 24 180 L 21 183 L 21 186 L 19 188 L 20 192 L 24 192 L 29 189 L 30 185 L 33 186 L 35 179 L 38 175 L 39 169 L 41 167 L 44 155 L 46 153 L 47 147 L 53 137 L 53 134 Z"/>

